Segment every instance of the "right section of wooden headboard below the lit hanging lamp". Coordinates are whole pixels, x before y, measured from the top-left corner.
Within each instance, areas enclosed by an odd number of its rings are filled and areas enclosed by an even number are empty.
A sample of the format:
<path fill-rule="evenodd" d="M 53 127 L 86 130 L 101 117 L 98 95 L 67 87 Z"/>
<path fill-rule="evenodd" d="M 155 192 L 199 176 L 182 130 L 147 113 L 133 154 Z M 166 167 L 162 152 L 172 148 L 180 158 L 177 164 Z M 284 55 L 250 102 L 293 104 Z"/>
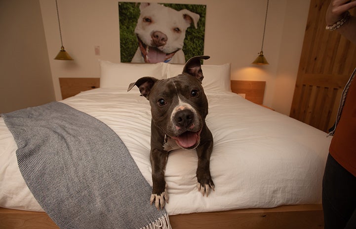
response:
<path fill-rule="evenodd" d="M 231 90 L 237 94 L 245 94 L 245 98 L 257 104 L 263 104 L 266 81 L 232 80 Z"/>

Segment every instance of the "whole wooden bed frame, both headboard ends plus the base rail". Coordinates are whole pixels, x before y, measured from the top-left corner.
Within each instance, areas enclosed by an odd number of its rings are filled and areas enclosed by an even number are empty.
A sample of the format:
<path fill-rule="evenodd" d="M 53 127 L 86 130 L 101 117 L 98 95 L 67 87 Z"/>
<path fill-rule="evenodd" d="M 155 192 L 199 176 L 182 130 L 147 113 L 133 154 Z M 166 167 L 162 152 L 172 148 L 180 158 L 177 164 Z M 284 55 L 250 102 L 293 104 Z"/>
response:
<path fill-rule="evenodd" d="M 59 78 L 62 97 L 99 87 L 99 78 Z M 262 105 L 265 81 L 232 80 L 232 91 Z M 321 204 L 239 209 L 169 216 L 173 229 L 322 229 Z M 58 229 L 44 212 L 0 208 L 1 229 Z"/>

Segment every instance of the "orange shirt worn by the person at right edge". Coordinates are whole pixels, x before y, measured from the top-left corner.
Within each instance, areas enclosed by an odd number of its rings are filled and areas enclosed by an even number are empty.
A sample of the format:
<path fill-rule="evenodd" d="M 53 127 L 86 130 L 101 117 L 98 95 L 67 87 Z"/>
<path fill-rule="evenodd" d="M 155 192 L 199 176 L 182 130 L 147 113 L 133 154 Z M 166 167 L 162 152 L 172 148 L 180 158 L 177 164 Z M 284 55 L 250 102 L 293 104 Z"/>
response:
<path fill-rule="evenodd" d="M 339 164 L 356 176 L 356 77 L 347 93 L 329 152 Z"/>

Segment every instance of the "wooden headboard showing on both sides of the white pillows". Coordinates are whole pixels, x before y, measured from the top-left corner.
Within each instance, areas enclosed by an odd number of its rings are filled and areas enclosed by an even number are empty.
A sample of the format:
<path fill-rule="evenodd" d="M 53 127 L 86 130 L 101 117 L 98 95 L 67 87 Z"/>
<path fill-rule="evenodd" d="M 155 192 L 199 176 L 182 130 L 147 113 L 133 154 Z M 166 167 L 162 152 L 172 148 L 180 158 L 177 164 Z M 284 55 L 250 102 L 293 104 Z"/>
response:
<path fill-rule="evenodd" d="M 100 87 L 100 78 L 59 78 L 62 99 L 75 96 L 80 92 Z M 266 81 L 232 80 L 231 90 L 245 94 L 245 98 L 257 104 L 263 103 Z"/>

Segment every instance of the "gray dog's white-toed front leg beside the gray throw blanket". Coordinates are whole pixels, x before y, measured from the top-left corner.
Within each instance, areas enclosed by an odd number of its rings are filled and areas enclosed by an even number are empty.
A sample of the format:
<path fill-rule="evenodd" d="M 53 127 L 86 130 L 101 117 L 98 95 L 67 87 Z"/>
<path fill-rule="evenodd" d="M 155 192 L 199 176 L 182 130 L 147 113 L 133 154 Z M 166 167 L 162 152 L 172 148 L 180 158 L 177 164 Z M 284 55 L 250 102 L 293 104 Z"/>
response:
<path fill-rule="evenodd" d="M 155 202 L 157 209 L 163 208 L 165 201 L 168 203 L 167 186 L 164 180 L 164 171 L 167 164 L 168 153 L 157 149 L 151 150 L 153 189 L 150 202 Z"/>

